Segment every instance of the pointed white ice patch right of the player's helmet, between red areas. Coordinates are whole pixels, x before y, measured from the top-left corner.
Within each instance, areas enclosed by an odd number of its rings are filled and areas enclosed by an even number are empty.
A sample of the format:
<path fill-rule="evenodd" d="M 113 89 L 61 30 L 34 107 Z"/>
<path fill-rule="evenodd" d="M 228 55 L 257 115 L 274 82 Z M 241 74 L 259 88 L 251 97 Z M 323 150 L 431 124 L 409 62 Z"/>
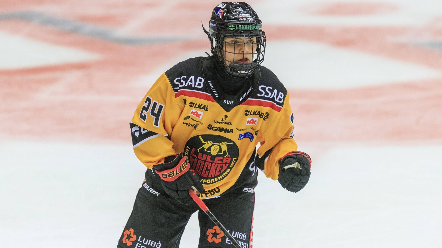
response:
<path fill-rule="evenodd" d="M 429 67 L 302 40 L 269 41 L 263 65 L 281 75 L 278 78 L 284 84 L 305 89 L 348 89 L 442 77 L 440 70 Z"/>

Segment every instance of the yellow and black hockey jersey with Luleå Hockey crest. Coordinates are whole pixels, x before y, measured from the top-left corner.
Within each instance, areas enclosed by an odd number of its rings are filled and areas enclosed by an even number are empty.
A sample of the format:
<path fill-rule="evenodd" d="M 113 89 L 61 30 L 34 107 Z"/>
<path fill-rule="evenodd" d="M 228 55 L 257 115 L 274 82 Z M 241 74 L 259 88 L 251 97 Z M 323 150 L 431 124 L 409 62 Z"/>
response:
<path fill-rule="evenodd" d="M 213 68 L 211 56 L 177 63 L 130 123 L 133 150 L 146 167 L 179 152 L 188 157 L 206 189 L 200 198 L 256 177 L 257 168 L 277 180 L 278 159 L 297 150 L 287 90 L 270 70 L 259 66 L 232 96 L 222 93 Z"/>

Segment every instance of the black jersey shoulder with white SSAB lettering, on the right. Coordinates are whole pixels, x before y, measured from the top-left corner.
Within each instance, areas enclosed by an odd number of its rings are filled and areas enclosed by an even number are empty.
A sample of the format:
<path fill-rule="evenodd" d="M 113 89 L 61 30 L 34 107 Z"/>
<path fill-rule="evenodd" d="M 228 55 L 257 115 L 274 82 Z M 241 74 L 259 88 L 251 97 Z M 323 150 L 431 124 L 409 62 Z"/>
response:
<path fill-rule="evenodd" d="M 276 109 L 280 109 L 284 105 L 287 96 L 287 89 L 279 81 L 278 77 L 267 67 L 259 66 L 255 71 L 255 77 L 259 77 L 257 89 L 255 89 L 250 100 L 261 100 L 263 102 L 271 102 L 276 105 Z"/>

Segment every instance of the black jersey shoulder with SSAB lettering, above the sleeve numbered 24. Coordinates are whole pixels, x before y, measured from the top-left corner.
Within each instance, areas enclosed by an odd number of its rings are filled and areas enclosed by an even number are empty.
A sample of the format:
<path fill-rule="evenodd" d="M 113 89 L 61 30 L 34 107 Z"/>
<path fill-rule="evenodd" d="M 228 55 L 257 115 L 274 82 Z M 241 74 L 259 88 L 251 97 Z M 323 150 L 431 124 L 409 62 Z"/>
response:
<path fill-rule="evenodd" d="M 202 74 L 202 59 L 195 57 L 177 63 L 165 72 L 175 93 L 181 90 L 206 93 Z"/>

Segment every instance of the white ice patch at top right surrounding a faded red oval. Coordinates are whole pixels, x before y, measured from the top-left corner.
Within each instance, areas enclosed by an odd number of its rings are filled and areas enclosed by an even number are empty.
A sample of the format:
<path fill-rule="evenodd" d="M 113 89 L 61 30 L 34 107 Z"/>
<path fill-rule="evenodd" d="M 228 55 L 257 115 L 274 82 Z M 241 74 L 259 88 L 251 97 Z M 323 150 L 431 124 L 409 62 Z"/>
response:
<path fill-rule="evenodd" d="M 392 4 L 394 11 L 382 11 L 374 15 L 314 15 L 302 11 L 307 5 L 328 3 Z M 283 7 L 281 7 L 283 6 Z M 441 16 L 442 1 L 438 0 L 275 0 L 256 1 L 255 10 L 265 10 L 267 24 L 284 23 L 326 26 L 427 26 L 434 17 Z M 388 7 L 387 7 L 388 9 Z"/>

